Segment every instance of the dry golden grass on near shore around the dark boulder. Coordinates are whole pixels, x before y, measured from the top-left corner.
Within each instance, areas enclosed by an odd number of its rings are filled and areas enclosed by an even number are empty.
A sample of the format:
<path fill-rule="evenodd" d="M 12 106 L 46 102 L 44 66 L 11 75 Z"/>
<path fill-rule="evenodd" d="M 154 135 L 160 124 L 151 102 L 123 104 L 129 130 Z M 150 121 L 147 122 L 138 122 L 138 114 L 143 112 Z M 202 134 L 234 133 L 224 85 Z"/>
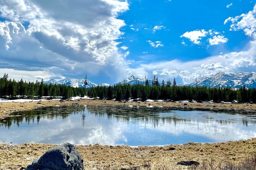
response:
<path fill-rule="evenodd" d="M 52 144 L 26 143 L 16 146 L 0 144 L 0 169 L 20 169 L 54 147 Z M 171 151 L 169 148 L 175 148 Z M 187 169 L 176 165 L 181 160 L 200 162 L 243 162 L 256 154 L 256 138 L 227 143 L 169 145 L 163 147 L 79 145 L 78 151 L 87 170 L 171 170 Z"/>

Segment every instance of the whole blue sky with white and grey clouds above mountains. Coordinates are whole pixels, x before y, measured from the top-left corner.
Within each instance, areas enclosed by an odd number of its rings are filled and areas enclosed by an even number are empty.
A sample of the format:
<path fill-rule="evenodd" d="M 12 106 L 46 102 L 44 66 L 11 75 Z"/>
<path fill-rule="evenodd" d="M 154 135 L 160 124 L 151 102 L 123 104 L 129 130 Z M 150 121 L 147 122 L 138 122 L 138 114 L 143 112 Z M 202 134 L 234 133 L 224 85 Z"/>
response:
<path fill-rule="evenodd" d="M 0 0 L 0 76 L 187 84 L 256 72 L 256 0 Z"/>

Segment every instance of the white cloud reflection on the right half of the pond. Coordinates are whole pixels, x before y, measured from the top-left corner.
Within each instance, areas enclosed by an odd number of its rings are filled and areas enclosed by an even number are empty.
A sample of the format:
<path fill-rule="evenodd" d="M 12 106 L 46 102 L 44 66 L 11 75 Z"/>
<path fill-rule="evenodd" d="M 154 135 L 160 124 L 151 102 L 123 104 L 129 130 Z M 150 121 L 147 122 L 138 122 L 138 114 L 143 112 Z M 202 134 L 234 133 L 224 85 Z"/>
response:
<path fill-rule="evenodd" d="M 152 124 L 139 123 L 141 128 L 152 129 Z M 158 121 L 157 130 L 159 132 L 171 133 L 175 136 L 182 134 L 200 135 L 212 139 L 214 141 L 229 141 L 240 140 L 256 137 L 255 124 L 248 124 L 245 127 L 243 124 L 235 123 L 219 123 L 215 120 L 207 122 L 198 121 L 169 121 L 168 123 L 163 120 Z"/>

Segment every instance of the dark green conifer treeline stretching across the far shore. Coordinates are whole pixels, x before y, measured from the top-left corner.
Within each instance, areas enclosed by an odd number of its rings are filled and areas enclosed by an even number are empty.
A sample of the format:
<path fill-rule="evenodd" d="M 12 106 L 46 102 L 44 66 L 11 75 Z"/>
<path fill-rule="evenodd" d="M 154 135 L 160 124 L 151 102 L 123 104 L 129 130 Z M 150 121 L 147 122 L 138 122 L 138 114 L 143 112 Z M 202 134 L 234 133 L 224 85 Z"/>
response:
<path fill-rule="evenodd" d="M 154 77 L 155 78 L 155 77 Z M 68 99 L 74 96 L 85 96 L 99 99 L 138 99 L 142 101 L 147 99 L 163 99 L 170 101 L 180 100 L 196 100 L 196 101 L 214 101 L 214 102 L 232 102 L 237 100 L 239 103 L 256 103 L 256 88 L 245 88 L 245 86 L 235 90 L 231 87 L 228 88 L 211 88 L 211 87 L 190 87 L 190 86 L 177 86 L 176 80 L 173 83 L 162 81 L 161 85 L 158 79 L 153 79 L 153 85 L 148 81 L 143 84 L 137 85 L 114 85 L 114 86 L 97 86 L 91 88 L 71 87 L 69 85 L 57 84 L 44 84 L 41 81 L 26 82 L 22 79 L 16 82 L 11 80 L 8 74 L 0 77 L 0 97 L 2 98 L 29 98 L 41 99 L 42 96 L 51 96 L 52 98 L 61 96 Z"/>

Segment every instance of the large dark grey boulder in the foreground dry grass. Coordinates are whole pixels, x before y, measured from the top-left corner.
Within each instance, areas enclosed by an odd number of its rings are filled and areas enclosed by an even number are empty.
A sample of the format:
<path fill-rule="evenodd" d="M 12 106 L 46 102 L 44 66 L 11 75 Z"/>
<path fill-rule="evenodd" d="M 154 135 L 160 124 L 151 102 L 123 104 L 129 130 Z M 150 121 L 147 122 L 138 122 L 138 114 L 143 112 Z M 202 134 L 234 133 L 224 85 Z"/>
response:
<path fill-rule="evenodd" d="M 84 170 L 83 159 L 75 145 L 61 144 L 35 159 L 26 170 Z"/>

